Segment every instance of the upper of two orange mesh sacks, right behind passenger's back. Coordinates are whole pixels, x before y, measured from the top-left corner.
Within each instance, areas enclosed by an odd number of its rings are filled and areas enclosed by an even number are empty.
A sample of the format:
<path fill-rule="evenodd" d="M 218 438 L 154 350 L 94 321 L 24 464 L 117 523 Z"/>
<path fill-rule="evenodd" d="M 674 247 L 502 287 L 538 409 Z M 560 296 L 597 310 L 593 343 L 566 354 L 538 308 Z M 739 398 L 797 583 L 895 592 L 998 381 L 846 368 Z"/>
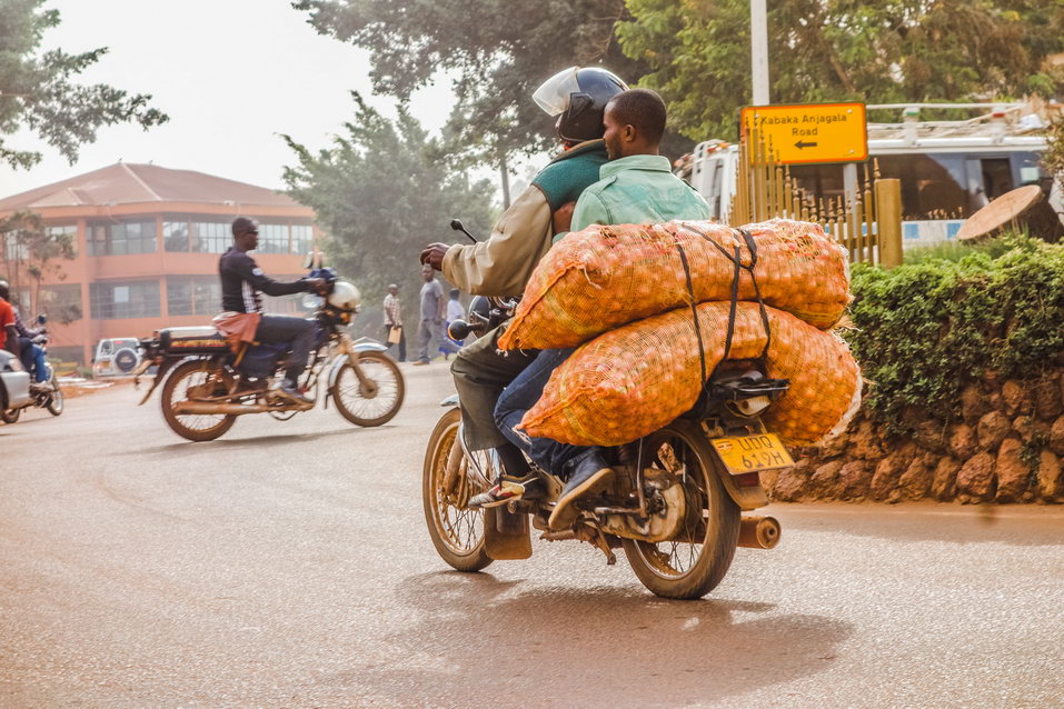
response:
<path fill-rule="evenodd" d="M 765 303 L 828 329 L 849 301 L 845 250 L 816 223 L 773 219 L 750 224 L 754 273 Z M 710 221 L 594 226 L 559 241 L 533 271 L 503 349 L 573 347 L 635 320 L 690 302 L 679 246 L 690 268 L 695 302 L 730 300 L 738 247 L 734 229 Z M 739 272 L 739 300 L 755 300 L 749 271 Z"/>

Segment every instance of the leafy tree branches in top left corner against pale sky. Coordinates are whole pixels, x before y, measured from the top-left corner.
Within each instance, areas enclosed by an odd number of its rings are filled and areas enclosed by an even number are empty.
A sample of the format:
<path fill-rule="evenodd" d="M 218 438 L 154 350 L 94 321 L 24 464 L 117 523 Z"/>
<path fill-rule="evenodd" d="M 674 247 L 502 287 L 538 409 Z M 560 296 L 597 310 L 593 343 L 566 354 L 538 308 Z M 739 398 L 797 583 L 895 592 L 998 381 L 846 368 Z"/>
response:
<path fill-rule="evenodd" d="M 59 24 L 59 12 L 41 10 L 44 0 L 0 0 L 0 162 L 29 168 L 41 153 L 8 146 L 3 136 L 21 128 L 36 132 L 70 161 L 80 146 L 96 140 L 101 126 L 135 121 L 148 129 L 168 117 L 148 102 L 107 84 L 74 83 L 107 49 L 68 54 L 40 52 L 43 33 Z"/>

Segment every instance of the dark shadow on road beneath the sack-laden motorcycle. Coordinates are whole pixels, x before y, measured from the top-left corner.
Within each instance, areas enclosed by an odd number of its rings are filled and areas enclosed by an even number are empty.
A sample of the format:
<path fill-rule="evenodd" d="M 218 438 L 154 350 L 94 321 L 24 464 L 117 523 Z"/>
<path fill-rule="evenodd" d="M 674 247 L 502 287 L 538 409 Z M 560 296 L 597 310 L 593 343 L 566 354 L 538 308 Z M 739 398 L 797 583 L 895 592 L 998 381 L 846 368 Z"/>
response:
<path fill-rule="evenodd" d="M 399 690 L 418 706 L 678 707 L 827 670 L 853 633 L 768 603 L 668 601 L 635 588 L 521 592 L 521 581 L 488 573 L 414 576 L 396 596 L 409 626 L 382 638 L 395 659 L 322 681 Z"/>

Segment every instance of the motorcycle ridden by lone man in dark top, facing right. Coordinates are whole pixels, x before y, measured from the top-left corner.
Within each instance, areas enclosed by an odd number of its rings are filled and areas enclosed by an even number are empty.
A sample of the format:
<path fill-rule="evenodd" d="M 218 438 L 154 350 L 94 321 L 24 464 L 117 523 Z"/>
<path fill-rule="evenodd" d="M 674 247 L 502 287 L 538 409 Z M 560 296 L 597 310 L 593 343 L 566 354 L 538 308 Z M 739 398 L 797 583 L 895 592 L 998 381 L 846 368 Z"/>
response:
<path fill-rule="evenodd" d="M 402 373 L 387 348 L 362 338 L 352 341 L 346 326 L 355 320 L 360 296 L 354 284 L 338 280 L 332 269 L 311 271 L 327 281 L 325 297 L 309 296 L 317 310 L 317 339 L 299 385 L 324 406 L 331 400 L 345 419 L 357 426 L 381 426 L 402 406 Z M 287 421 L 312 403 L 297 402 L 271 389 L 287 367 L 287 344 L 241 342 L 233 352 L 215 327 L 167 328 L 140 340 L 143 359 L 135 383 L 150 367 L 158 370 L 140 405 L 162 385 L 162 416 L 170 429 L 190 441 L 219 438 L 238 416 L 269 413 Z"/>

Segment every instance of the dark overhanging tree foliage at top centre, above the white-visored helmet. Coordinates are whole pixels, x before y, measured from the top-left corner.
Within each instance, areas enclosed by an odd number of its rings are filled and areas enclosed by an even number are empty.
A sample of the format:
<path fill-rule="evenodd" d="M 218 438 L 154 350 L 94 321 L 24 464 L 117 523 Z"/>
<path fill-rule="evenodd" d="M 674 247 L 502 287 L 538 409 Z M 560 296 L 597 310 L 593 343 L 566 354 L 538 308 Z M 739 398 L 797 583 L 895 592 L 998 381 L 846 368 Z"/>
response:
<path fill-rule="evenodd" d="M 625 0 L 298 0 L 310 23 L 370 51 L 375 91 L 407 99 L 437 71 L 458 97 L 449 147 L 499 167 L 514 152 L 556 144 L 553 119 L 531 100 L 539 83 L 573 64 L 639 76 L 614 26 Z"/>

